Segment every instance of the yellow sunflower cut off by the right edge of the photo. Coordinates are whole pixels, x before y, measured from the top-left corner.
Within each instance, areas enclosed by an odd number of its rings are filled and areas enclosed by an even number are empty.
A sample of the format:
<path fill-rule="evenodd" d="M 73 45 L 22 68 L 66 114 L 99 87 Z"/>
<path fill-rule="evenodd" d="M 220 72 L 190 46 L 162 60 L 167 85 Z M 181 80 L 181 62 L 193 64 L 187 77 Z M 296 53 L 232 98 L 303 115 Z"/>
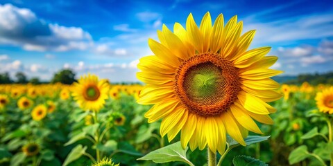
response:
<path fill-rule="evenodd" d="M 333 113 L 333 86 L 322 92 L 318 92 L 315 99 L 319 111 L 330 114 Z"/>

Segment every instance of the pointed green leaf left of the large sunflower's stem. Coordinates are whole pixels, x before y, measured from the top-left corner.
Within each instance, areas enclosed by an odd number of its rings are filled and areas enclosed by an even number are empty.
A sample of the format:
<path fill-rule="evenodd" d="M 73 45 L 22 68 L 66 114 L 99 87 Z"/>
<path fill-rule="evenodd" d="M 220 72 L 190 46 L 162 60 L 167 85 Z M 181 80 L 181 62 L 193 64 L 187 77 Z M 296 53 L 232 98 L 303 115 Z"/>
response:
<path fill-rule="evenodd" d="M 180 142 L 173 143 L 166 147 L 162 147 L 155 151 L 151 151 L 146 156 L 142 158 L 138 158 L 137 160 L 153 160 L 155 163 L 168 163 L 172 161 L 181 161 L 187 163 L 189 165 L 193 165 L 187 158 L 186 158 L 186 149 L 182 149 L 182 145 Z"/>

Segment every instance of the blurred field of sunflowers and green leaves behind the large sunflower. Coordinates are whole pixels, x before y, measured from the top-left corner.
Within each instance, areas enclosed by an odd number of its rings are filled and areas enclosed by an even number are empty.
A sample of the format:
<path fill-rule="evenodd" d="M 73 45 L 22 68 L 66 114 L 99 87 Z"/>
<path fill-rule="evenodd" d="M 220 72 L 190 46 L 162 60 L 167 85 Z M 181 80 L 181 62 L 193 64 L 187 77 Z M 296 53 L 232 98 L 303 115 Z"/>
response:
<path fill-rule="evenodd" d="M 104 157 L 121 165 L 153 165 L 151 160 L 137 158 L 177 142 L 179 134 L 168 142 L 160 136 L 160 122 L 147 122 L 144 113 L 151 106 L 136 103 L 141 85 L 108 86 L 104 107 L 83 111 L 72 96 L 73 86 L 1 85 L 0 165 L 90 165 Z M 329 87 L 307 82 L 282 85 L 284 98 L 271 103 L 278 109 L 271 116 L 274 124 L 259 126 L 262 136 L 271 137 L 234 148 L 222 165 L 231 165 L 237 155 L 270 165 L 328 165 L 333 149 L 332 116 L 318 111 L 315 96 Z M 328 102 L 332 105 L 332 99 Z M 205 165 L 206 153 L 187 151 L 187 158 L 194 165 Z"/>

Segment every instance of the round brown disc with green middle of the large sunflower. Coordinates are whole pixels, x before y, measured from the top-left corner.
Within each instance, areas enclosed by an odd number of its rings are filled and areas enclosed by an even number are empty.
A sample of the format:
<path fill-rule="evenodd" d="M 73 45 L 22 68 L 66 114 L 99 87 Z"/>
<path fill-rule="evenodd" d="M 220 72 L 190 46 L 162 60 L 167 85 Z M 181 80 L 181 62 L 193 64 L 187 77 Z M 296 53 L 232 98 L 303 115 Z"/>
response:
<path fill-rule="evenodd" d="M 187 59 L 177 70 L 174 89 L 183 104 L 199 116 L 219 116 L 237 99 L 238 68 L 216 53 Z"/>

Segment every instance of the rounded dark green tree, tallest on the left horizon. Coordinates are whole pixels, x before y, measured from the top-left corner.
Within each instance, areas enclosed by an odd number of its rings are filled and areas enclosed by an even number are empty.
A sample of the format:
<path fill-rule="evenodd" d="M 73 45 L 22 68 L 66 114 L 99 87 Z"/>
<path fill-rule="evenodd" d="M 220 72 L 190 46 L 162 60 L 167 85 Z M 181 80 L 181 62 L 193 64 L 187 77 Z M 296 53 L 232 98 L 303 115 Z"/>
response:
<path fill-rule="evenodd" d="M 71 71 L 71 69 L 68 68 L 59 71 L 51 80 L 51 83 L 56 82 L 61 82 L 62 84 L 73 84 L 73 82 L 76 82 L 74 71 Z"/>

